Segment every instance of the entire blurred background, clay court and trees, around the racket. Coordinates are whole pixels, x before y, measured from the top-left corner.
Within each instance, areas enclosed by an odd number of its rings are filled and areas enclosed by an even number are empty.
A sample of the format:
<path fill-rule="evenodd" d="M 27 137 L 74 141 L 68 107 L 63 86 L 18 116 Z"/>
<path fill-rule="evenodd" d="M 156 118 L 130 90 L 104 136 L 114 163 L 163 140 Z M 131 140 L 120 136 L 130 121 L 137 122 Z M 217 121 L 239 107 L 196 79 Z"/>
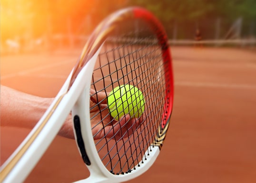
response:
<path fill-rule="evenodd" d="M 129 183 L 256 183 L 256 0 L 1 0 L 0 83 L 55 97 L 93 29 L 128 6 L 164 25 L 175 85 L 161 153 Z M 0 165 L 29 132 L 0 128 Z M 57 136 L 25 183 L 88 176 L 75 141 Z"/>

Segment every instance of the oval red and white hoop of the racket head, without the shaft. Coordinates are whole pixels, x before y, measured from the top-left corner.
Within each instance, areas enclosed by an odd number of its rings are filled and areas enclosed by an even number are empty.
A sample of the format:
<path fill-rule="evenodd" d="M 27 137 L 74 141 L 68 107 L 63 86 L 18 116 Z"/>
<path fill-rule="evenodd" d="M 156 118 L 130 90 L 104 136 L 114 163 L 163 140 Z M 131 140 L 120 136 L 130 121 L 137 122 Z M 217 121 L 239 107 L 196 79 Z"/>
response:
<path fill-rule="evenodd" d="M 118 12 L 113 13 L 110 15 L 108 18 L 105 19 L 97 28 L 94 34 L 91 36 L 91 42 L 95 41 L 93 38 L 97 37 L 97 41 L 101 43 L 100 39 L 103 39 L 108 36 L 109 33 L 111 33 L 112 30 L 114 30 L 113 27 L 115 27 L 116 21 L 122 21 L 122 18 L 127 18 L 131 15 L 129 13 L 133 13 L 134 18 L 142 18 L 148 21 L 149 23 L 157 23 L 158 29 L 155 30 L 156 34 L 157 31 L 164 31 L 164 28 L 161 26 L 161 24 L 158 22 L 158 20 L 145 9 L 137 8 L 137 7 L 132 7 L 128 9 L 122 9 Z M 120 18 L 120 17 L 122 18 Z M 118 18 L 116 18 L 118 17 Z M 105 24 L 104 24 L 105 23 Z M 106 31 L 102 31 L 102 28 L 104 27 Z M 96 36 L 98 35 L 98 36 Z M 157 35 L 159 36 L 159 35 Z M 162 36 L 162 35 L 161 35 Z M 166 34 L 164 35 L 166 36 Z M 96 43 L 97 43 L 96 41 Z M 170 50 L 167 45 L 167 37 L 158 37 L 158 44 L 162 46 L 162 57 L 163 59 L 166 59 L 167 61 L 171 61 L 170 57 Z M 97 47 L 97 44 L 93 44 L 93 46 Z M 172 71 L 172 65 L 171 63 L 167 63 L 167 67 L 165 67 L 165 72 L 172 74 L 170 71 Z M 92 75 L 92 73 L 90 73 Z M 168 82 L 168 83 L 167 83 Z M 141 160 L 138 165 L 135 166 L 136 170 L 131 171 L 131 173 L 128 174 L 111 174 L 109 170 L 103 165 L 100 157 L 98 156 L 98 151 L 96 149 L 93 136 L 92 136 L 92 131 L 90 130 L 91 126 L 88 121 L 89 119 L 89 89 L 85 89 L 85 91 L 82 93 L 82 96 L 79 97 L 78 102 L 75 104 L 73 110 L 72 110 L 72 115 L 74 116 L 79 116 L 80 119 L 80 128 L 85 129 L 84 131 L 81 131 L 82 133 L 82 139 L 83 139 L 83 144 L 84 147 L 86 148 L 86 156 L 88 156 L 90 165 L 87 165 L 90 176 L 87 179 L 80 180 L 76 183 L 90 183 L 90 182 L 95 182 L 95 183 L 116 183 L 116 182 L 123 182 L 123 181 L 128 181 L 130 179 L 133 179 L 144 172 L 148 170 L 148 168 L 153 165 L 155 162 L 160 149 L 163 145 L 164 139 L 166 137 L 166 132 L 167 128 L 169 126 L 169 120 L 170 120 L 170 115 L 171 115 L 171 110 L 172 110 L 172 105 L 173 105 L 173 76 L 172 75 L 167 75 L 166 76 L 166 88 L 170 89 L 169 91 L 166 91 L 166 103 L 164 104 L 164 113 L 162 116 L 162 123 L 158 128 L 158 135 L 155 139 L 155 142 L 151 144 L 151 146 L 148 147 L 148 150 L 145 152 L 149 152 L 149 155 L 147 155 L 147 161 Z M 86 104 L 85 101 L 88 103 Z M 81 105 L 79 107 L 79 105 Z M 80 111 L 82 108 L 86 108 L 87 113 L 84 113 L 84 111 Z M 167 118 L 166 118 L 167 117 Z M 76 139 L 77 140 L 77 139 Z M 79 146 L 79 145 L 78 145 Z M 81 154 L 81 156 L 83 156 Z M 143 161 L 143 163 L 142 163 Z"/>

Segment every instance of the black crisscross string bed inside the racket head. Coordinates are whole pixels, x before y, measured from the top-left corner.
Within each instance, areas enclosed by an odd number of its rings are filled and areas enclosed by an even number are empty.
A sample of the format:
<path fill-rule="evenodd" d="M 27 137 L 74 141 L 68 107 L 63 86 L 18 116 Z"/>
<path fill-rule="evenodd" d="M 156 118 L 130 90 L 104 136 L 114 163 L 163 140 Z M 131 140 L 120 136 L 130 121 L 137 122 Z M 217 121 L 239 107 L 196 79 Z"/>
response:
<path fill-rule="evenodd" d="M 115 44 L 113 44 L 115 42 Z M 99 117 L 95 126 L 101 125 L 104 137 L 95 141 L 98 154 L 103 164 L 112 174 L 125 174 L 140 166 L 147 160 L 157 135 L 161 121 L 165 96 L 165 73 L 163 71 L 163 57 L 161 47 L 157 45 L 154 36 L 134 38 L 111 37 L 102 48 L 95 66 L 92 88 L 108 94 L 116 86 L 130 84 L 136 86 L 144 95 L 145 112 L 137 121 L 125 131 L 109 115 L 108 107 L 100 108 L 98 114 L 91 116 L 91 120 Z M 97 92 L 92 94 L 97 95 Z M 91 109 L 102 105 L 97 101 Z M 133 106 L 136 108 L 136 106 Z M 99 108 L 99 107 L 98 107 Z M 104 112 L 105 111 L 105 112 Z M 108 113 L 104 116 L 105 113 Z M 110 122 L 104 120 L 110 118 Z M 142 122 L 138 124 L 138 120 Z M 125 125 L 130 123 L 125 121 Z M 107 126 L 112 126 L 106 130 Z M 92 127 L 94 129 L 95 127 Z M 98 131 L 94 136 L 97 136 Z M 113 133 L 112 138 L 108 134 Z M 120 135 L 120 137 L 117 137 Z M 127 138 L 124 138 L 128 136 Z M 152 146 L 152 147 L 151 147 Z"/>

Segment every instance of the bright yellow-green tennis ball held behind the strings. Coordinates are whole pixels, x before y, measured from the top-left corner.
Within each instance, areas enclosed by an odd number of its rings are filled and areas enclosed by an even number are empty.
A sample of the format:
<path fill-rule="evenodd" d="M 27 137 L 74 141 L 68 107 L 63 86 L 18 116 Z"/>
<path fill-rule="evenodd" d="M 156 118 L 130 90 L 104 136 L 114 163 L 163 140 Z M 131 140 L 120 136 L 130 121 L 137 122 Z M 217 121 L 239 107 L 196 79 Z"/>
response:
<path fill-rule="evenodd" d="M 131 118 L 138 118 L 144 112 L 143 93 L 132 85 L 120 85 L 108 95 L 108 110 L 111 116 L 119 120 L 129 114 Z"/>

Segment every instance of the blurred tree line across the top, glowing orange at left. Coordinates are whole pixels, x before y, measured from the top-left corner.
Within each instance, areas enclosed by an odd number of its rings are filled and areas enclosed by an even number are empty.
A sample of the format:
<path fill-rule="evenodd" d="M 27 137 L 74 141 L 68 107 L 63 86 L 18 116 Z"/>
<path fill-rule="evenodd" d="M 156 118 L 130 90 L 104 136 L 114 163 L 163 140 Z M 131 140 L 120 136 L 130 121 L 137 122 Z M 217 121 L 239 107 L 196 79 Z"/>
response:
<path fill-rule="evenodd" d="M 242 36 L 256 37 L 256 0 L 1 0 L 1 41 L 28 27 L 32 37 L 89 34 L 109 13 L 128 6 L 152 11 L 169 37 L 193 38 L 200 27 L 203 37 L 212 39 L 216 32 L 224 35 L 237 18 L 243 19 Z"/>

